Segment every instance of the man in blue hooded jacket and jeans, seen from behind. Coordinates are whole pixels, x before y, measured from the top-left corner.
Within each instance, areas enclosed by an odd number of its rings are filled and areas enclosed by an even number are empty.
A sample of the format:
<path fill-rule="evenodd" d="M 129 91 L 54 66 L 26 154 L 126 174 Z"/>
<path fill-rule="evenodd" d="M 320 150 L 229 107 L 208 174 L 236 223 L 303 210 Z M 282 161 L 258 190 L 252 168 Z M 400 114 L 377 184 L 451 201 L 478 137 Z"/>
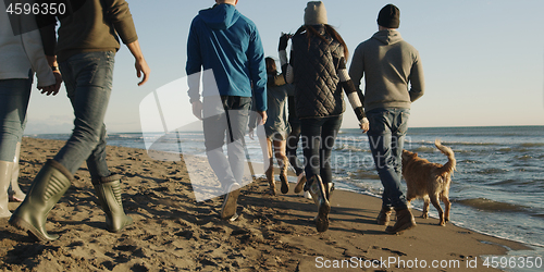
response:
<path fill-rule="evenodd" d="M 226 193 L 221 210 L 223 220 L 237 217 L 245 163 L 244 135 L 252 98 L 261 122 L 267 121 L 264 50 L 256 25 L 236 10 L 237 3 L 215 0 L 213 8 L 201 10 L 193 20 L 187 40 L 188 95 L 193 113 L 203 121 L 208 160 Z M 213 78 L 206 76 L 209 74 Z M 228 157 L 223 153 L 225 135 Z"/>

